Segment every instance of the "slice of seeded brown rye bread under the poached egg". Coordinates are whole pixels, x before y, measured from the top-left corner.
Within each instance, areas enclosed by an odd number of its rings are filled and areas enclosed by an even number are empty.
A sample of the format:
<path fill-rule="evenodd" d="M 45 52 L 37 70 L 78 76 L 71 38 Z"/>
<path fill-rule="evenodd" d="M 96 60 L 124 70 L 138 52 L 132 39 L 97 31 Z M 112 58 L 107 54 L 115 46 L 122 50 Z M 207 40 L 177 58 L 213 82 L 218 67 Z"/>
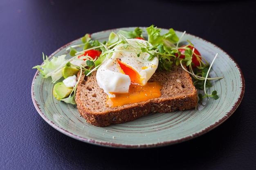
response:
<path fill-rule="evenodd" d="M 181 66 L 175 66 L 171 72 L 155 72 L 149 79 L 149 82 L 154 81 L 163 85 L 161 97 L 113 108 L 105 103 L 107 94 L 97 84 L 96 71 L 89 77 L 83 74 L 75 96 L 78 111 L 88 123 L 103 127 L 133 121 L 150 112 L 173 112 L 197 105 L 198 96 L 192 78 Z"/>

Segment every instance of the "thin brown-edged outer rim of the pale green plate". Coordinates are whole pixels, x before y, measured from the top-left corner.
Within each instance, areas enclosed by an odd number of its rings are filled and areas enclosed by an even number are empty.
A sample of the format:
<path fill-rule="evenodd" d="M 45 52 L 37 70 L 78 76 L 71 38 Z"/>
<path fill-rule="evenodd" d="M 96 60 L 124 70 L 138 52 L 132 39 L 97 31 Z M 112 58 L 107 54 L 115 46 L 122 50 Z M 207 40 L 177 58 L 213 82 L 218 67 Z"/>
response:
<path fill-rule="evenodd" d="M 146 29 L 147 28 L 145 26 L 121 27 L 121 28 L 107 29 L 107 30 L 103 30 L 103 31 L 98 31 L 98 32 L 92 33 L 91 35 L 97 35 L 97 34 L 109 32 L 109 31 L 117 31 L 117 30 L 120 30 L 120 29 L 135 29 L 137 27 L 139 27 L 141 29 Z M 159 29 L 168 30 L 168 29 L 165 29 L 165 28 L 159 28 Z M 175 32 L 182 33 L 181 31 L 177 31 L 177 30 L 175 30 Z M 164 141 L 164 142 L 156 142 L 155 144 L 142 144 L 142 145 L 137 145 L 137 144 L 136 145 L 116 144 L 116 143 L 113 143 L 113 142 L 96 141 L 94 139 L 88 139 L 88 138 L 85 138 L 85 137 L 80 137 L 78 135 L 73 134 L 72 132 L 69 132 L 68 130 L 63 129 L 62 127 L 60 127 L 57 124 L 55 124 L 54 122 L 52 122 L 42 112 L 42 110 L 40 110 L 40 108 L 38 106 L 39 104 L 37 103 L 37 101 L 36 101 L 36 99 L 34 97 L 35 96 L 35 94 L 34 94 L 34 82 L 36 80 L 36 77 L 39 75 L 39 71 L 38 70 L 36 71 L 36 73 L 35 73 L 35 75 L 33 77 L 33 80 L 32 80 L 32 84 L 31 84 L 31 99 L 32 99 L 32 102 L 34 104 L 34 107 L 36 108 L 36 110 L 39 113 L 39 115 L 47 122 L 47 124 L 52 126 L 54 129 L 58 130 L 59 132 L 65 134 L 65 135 L 67 135 L 69 137 L 77 139 L 79 141 L 83 141 L 83 142 L 86 142 L 86 143 L 89 143 L 89 144 L 94 144 L 94 145 L 97 145 L 97 146 L 105 146 L 105 147 L 111 147 L 111 148 L 153 148 L 153 147 L 160 147 L 160 146 L 168 146 L 168 145 L 172 145 L 172 144 L 177 144 L 177 143 L 180 143 L 180 142 L 183 142 L 183 141 L 188 141 L 188 140 L 193 139 L 195 137 L 199 137 L 199 136 L 201 136 L 201 135 L 203 135 L 203 134 L 213 130 L 214 128 L 220 126 L 223 122 L 225 122 L 236 111 L 236 109 L 238 108 L 238 106 L 242 102 L 242 99 L 243 99 L 243 96 L 244 96 L 244 93 L 245 93 L 245 78 L 244 78 L 243 72 L 242 72 L 240 66 L 238 65 L 238 63 L 226 51 L 221 49 L 216 44 L 213 44 L 213 43 L 211 43 L 211 42 L 209 42 L 209 41 L 207 41 L 207 40 L 205 40 L 203 38 L 200 38 L 198 36 L 192 35 L 190 33 L 186 33 L 186 35 L 190 35 L 190 36 L 193 36 L 194 38 L 197 38 L 199 40 L 207 42 L 207 43 L 211 44 L 212 46 L 215 46 L 216 48 L 220 49 L 223 53 L 225 53 L 229 57 L 229 59 L 232 60 L 234 62 L 234 64 L 236 65 L 236 68 L 238 69 L 239 77 L 240 77 L 239 82 L 241 82 L 241 83 L 239 83 L 239 85 L 241 84 L 240 95 L 239 95 L 238 99 L 236 100 L 236 102 L 233 104 L 231 110 L 229 110 L 229 112 L 226 112 L 225 115 L 223 115 L 223 117 L 221 119 L 219 119 L 218 121 L 216 121 L 214 124 L 211 124 L 211 126 L 208 126 L 208 127 L 204 128 L 200 132 L 196 132 L 194 134 L 191 134 L 191 135 L 188 135 L 188 136 L 185 136 L 185 137 L 181 137 L 180 139 L 176 139 L 176 140 L 170 140 L 170 141 Z M 51 59 L 54 56 L 54 54 L 56 54 L 59 51 L 65 49 L 70 44 L 72 44 L 72 43 L 74 43 L 74 42 L 76 42 L 78 40 L 81 40 L 81 38 L 77 38 L 77 39 L 75 39 L 75 40 L 73 40 L 73 41 L 71 41 L 71 42 L 61 46 L 56 51 L 54 51 L 51 55 L 49 55 L 48 59 Z M 43 63 L 44 62 L 42 62 L 42 64 Z"/>

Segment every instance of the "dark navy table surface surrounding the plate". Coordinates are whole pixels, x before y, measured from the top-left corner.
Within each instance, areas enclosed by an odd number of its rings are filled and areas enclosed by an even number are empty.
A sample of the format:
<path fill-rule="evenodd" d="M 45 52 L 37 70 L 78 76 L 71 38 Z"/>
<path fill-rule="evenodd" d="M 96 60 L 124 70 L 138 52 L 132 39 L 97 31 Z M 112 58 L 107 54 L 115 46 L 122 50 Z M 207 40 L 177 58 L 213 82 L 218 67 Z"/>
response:
<path fill-rule="evenodd" d="M 254 0 L 1 0 L 0 169 L 256 169 L 255 23 Z M 245 94 L 227 121 L 179 144 L 117 149 L 68 137 L 40 117 L 31 83 L 42 52 L 85 33 L 151 24 L 186 30 L 236 60 Z"/>

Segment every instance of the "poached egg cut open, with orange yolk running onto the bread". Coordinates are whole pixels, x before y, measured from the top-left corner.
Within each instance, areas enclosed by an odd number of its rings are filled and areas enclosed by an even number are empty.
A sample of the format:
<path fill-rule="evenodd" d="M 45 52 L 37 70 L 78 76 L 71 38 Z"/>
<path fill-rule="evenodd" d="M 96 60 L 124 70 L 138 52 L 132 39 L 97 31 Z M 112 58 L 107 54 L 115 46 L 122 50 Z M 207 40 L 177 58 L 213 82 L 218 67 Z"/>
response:
<path fill-rule="evenodd" d="M 142 102 L 161 96 L 161 85 L 148 82 L 158 66 L 158 57 L 148 60 L 150 54 L 139 53 L 141 45 L 150 45 L 142 39 L 126 39 L 124 44 L 115 47 L 110 59 L 99 66 L 96 79 L 99 87 L 108 95 L 106 104 L 110 107 Z"/>

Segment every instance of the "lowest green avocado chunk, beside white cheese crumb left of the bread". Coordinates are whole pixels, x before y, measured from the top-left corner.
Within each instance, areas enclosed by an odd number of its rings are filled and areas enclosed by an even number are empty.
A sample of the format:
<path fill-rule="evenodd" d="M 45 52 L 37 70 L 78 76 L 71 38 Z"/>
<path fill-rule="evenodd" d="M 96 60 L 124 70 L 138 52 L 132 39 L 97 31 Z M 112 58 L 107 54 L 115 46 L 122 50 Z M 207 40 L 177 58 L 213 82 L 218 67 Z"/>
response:
<path fill-rule="evenodd" d="M 58 82 L 53 87 L 53 95 L 57 100 L 64 99 L 72 92 L 72 87 L 67 87 L 63 82 Z"/>

